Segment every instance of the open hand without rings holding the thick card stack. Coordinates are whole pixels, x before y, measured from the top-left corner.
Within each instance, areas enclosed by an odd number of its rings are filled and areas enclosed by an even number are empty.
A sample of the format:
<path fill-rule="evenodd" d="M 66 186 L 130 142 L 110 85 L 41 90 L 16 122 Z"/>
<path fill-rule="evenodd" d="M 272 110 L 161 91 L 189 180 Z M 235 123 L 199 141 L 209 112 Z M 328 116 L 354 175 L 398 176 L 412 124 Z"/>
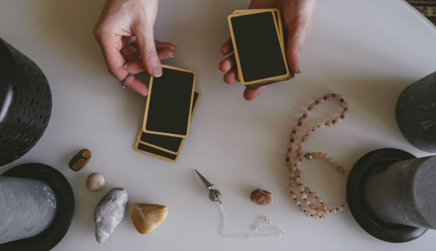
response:
<path fill-rule="evenodd" d="M 248 9 L 271 8 L 279 9 L 282 13 L 286 60 L 289 70 L 293 73 L 301 73 L 300 53 L 304 40 L 312 29 L 315 0 L 252 0 L 248 7 Z M 229 39 L 222 45 L 221 54 L 229 55 L 232 52 L 233 45 L 231 39 Z M 239 82 L 234 54 L 221 61 L 219 69 L 225 73 L 225 83 L 234 84 Z M 246 100 L 254 99 L 265 87 L 246 88 L 244 98 Z"/>

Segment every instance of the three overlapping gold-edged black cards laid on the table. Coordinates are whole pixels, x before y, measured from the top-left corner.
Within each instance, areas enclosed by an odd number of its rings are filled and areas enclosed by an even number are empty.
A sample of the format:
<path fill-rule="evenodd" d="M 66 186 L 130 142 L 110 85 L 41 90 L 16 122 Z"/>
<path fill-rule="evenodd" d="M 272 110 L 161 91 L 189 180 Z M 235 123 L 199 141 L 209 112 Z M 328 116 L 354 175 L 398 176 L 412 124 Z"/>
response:
<path fill-rule="evenodd" d="M 134 149 L 175 162 L 188 137 L 200 99 L 194 71 L 162 65 L 161 77 L 150 77 L 144 122 Z"/>

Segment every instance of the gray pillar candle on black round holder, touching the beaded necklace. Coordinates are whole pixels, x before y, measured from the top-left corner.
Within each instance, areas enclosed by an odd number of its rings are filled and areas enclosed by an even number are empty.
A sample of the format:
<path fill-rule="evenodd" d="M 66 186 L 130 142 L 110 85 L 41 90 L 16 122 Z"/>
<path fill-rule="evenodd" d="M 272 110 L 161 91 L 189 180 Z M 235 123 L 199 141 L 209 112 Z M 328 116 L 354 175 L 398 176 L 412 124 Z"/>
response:
<path fill-rule="evenodd" d="M 347 201 L 375 238 L 406 242 L 436 229 L 436 156 L 416 158 L 393 148 L 362 156 L 347 180 Z"/>

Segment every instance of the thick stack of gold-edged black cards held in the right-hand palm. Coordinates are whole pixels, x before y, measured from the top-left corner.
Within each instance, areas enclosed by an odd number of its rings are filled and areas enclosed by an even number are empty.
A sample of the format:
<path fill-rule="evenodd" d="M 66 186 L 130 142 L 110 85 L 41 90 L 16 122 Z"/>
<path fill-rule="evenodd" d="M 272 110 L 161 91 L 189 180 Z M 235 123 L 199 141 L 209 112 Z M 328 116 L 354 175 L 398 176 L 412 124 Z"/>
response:
<path fill-rule="evenodd" d="M 286 62 L 278 9 L 235 10 L 228 21 L 242 84 L 256 88 L 293 77 Z"/>

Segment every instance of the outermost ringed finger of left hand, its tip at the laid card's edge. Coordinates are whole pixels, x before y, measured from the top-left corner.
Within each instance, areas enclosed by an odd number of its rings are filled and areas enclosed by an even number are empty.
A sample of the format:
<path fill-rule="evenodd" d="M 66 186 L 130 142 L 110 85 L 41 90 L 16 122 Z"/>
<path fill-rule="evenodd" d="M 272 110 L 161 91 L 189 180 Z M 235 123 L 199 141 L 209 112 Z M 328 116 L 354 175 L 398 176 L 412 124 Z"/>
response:
<path fill-rule="evenodd" d="M 120 36 L 114 36 L 111 34 L 102 35 L 102 51 L 106 60 L 106 64 L 108 65 L 109 73 L 118 81 L 121 81 L 129 74 L 129 71 L 123 67 L 125 59 L 120 53 L 120 43 Z M 147 96 L 147 87 L 134 76 L 130 76 L 124 85 L 143 96 Z"/>

